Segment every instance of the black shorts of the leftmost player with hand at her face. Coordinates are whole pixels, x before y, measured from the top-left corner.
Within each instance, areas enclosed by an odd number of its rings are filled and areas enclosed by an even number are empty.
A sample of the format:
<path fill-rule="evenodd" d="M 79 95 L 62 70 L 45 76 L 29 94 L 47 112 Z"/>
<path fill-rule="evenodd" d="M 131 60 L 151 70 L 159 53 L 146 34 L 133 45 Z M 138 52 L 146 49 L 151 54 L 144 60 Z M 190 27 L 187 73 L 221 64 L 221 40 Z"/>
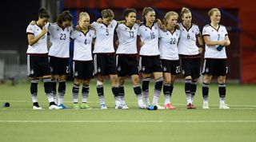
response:
<path fill-rule="evenodd" d="M 27 55 L 28 77 L 42 77 L 50 75 L 50 62 L 47 54 Z"/>

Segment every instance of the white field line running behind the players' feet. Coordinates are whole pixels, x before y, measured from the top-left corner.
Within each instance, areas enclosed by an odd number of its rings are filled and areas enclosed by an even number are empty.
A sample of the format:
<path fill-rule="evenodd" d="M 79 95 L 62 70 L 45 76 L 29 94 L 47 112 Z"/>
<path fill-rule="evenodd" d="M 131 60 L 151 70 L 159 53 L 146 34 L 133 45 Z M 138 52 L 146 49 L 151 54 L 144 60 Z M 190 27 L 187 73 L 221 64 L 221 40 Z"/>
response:
<path fill-rule="evenodd" d="M 0 102 L 16 102 L 16 103 L 32 103 L 31 101 L 7 101 L 7 100 L 0 100 Z M 47 103 L 48 101 L 40 101 L 40 103 Z M 73 101 L 65 101 L 67 104 L 73 104 Z M 89 104 L 98 104 L 98 101 L 88 101 Z M 114 104 L 114 101 L 106 101 L 106 104 Z M 138 104 L 138 102 L 127 102 L 127 104 Z M 184 105 L 186 104 L 173 104 L 173 105 Z M 218 106 L 218 104 L 210 104 L 210 106 Z M 256 105 L 228 105 L 233 107 L 248 107 L 248 108 L 256 108 Z M 198 105 L 200 107 L 200 105 Z"/>

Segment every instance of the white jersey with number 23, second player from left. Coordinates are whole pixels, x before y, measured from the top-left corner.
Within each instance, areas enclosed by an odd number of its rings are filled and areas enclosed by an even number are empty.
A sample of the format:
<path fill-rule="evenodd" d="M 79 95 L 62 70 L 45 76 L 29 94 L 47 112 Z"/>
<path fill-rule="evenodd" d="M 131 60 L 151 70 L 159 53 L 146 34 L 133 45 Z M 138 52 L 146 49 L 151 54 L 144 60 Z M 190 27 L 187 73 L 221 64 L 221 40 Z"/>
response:
<path fill-rule="evenodd" d="M 58 24 L 50 24 L 48 33 L 52 45 L 49 55 L 53 57 L 70 57 L 70 34 L 72 26 L 62 29 Z"/>

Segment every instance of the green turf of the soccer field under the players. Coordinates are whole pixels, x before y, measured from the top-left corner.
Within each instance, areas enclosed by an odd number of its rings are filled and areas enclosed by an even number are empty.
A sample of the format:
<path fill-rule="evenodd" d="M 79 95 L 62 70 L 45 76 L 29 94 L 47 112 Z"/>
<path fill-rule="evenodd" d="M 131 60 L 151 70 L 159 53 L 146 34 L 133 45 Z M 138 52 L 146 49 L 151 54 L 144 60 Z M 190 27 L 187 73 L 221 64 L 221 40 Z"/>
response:
<path fill-rule="evenodd" d="M 137 108 L 132 85 L 127 82 L 126 104 L 129 110 L 115 110 L 109 83 L 104 85 L 106 105 L 100 110 L 95 81 L 90 85 L 89 104 L 93 109 L 48 110 L 42 83 L 38 101 L 42 108 L 31 108 L 30 84 L 26 81 L 11 86 L 0 85 L 0 141 L 88 141 L 88 142 L 156 142 L 206 141 L 254 142 L 256 140 L 256 86 L 227 84 L 226 103 L 230 110 L 218 109 L 218 85 L 210 85 L 210 109 L 202 109 L 201 85 L 194 99 L 196 110 L 186 109 L 184 85 L 176 84 L 172 103 L 176 110 L 149 111 Z M 154 84 L 150 84 L 150 101 Z M 66 87 L 65 105 L 72 107 L 72 83 Z M 81 95 L 80 95 L 81 96 Z M 160 99 L 163 102 L 163 95 Z"/>

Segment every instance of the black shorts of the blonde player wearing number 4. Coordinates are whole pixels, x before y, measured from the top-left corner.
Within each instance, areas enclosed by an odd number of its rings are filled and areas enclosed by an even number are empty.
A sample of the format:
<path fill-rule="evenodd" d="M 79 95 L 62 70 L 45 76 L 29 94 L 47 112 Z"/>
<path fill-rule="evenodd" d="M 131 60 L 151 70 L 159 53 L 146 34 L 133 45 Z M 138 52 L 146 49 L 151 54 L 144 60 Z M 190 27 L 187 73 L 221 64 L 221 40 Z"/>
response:
<path fill-rule="evenodd" d="M 74 78 L 81 80 L 94 77 L 94 61 L 73 61 Z"/>

